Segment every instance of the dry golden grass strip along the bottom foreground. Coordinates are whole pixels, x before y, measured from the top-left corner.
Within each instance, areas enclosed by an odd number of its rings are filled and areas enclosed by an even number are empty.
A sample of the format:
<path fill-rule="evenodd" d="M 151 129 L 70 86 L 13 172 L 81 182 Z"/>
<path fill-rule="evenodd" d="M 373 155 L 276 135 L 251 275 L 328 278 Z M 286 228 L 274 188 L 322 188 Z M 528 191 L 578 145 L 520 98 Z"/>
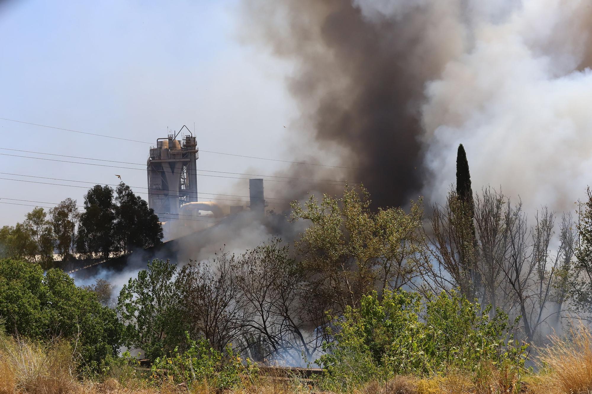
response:
<path fill-rule="evenodd" d="M 445 377 L 417 379 L 398 376 L 388 382 L 370 382 L 350 394 L 581 394 L 592 392 L 592 333 L 585 328 L 567 339 L 553 338 L 540 351 L 542 373 L 519 376 L 516 369 L 482 366 L 478 373 L 448 373 Z M 135 371 L 135 370 L 134 370 Z M 138 375 L 139 376 L 139 375 Z M 65 341 L 42 345 L 0 337 L 0 394 L 220 394 L 207 385 L 189 390 L 162 382 L 149 386 L 125 369 L 103 382 L 79 380 L 72 349 Z M 227 394 L 330 394 L 313 382 L 292 377 L 262 377 L 244 382 Z"/>

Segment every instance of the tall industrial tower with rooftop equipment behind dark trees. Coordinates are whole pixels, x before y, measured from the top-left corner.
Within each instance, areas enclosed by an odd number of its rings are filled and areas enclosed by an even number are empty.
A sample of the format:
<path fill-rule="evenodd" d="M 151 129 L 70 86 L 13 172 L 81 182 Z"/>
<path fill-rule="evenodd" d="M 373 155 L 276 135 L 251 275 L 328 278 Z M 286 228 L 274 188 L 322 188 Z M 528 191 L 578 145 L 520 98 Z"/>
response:
<path fill-rule="evenodd" d="M 177 140 L 184 128 L 190 135 Z M 157 139 L 147 161 L 148 206 L 161 222 L 178 219 L 181 204 L 197 201 L 197 143 L 186 126 L 181 130 Z"/>

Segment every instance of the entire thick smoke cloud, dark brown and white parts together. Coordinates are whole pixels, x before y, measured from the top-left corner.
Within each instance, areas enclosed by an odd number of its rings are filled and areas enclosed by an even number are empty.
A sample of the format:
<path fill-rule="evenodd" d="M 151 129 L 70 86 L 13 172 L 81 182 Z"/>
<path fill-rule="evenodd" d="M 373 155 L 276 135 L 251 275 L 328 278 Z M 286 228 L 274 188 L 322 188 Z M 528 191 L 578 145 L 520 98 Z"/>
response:
<path fill-rule="evenodd" d="M 590 182 L 589 2 L 253 0 L 246 13 L 294 64 L 297 143 L 359 168 L 340 176 L 375 206 L 441 201 L 459 143 L 475 185 L 530 207 L 569 209 Z"/>

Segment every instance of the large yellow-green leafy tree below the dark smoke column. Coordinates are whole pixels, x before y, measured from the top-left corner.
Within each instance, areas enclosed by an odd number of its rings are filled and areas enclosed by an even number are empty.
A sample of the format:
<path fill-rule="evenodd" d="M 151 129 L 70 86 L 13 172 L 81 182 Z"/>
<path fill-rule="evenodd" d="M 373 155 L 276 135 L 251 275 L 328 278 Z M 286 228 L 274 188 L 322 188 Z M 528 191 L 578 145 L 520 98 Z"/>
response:
<path fill-rule="evenodd" d="M 296 243 L 312 289 L 328 306 L 358 306 L 375 288 L 398 289 L 419 276 L 421 201 L 403 209 L 371 212 L 368 192 L 346 187 L 343 198 L 311 196 L 292 203 L 291 220 L 310 220 Z"/>

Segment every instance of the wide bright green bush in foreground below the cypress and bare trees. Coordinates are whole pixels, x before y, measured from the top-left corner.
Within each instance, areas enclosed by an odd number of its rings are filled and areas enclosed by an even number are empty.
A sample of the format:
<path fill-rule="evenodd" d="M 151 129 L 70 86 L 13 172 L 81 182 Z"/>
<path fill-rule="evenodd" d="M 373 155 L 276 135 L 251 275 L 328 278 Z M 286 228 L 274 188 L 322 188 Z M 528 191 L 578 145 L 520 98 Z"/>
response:
<path fill-rule="evenodd" d="M 457 293 L 427 300 L 416 293 L 385 292 L 363 296 L 359 309 L 348 307 L 334 319 L 334 341 L 320 364 L 327 382 L 356 385 L 397 374 L 430 376 L 449 369 L 474 371 L 482 363 L 509 362 L 522 367 L 526 347 L 509 334 L 508 316 L 481 310 Z M 353 379 L 353 380 L 352 380 Z"/>

